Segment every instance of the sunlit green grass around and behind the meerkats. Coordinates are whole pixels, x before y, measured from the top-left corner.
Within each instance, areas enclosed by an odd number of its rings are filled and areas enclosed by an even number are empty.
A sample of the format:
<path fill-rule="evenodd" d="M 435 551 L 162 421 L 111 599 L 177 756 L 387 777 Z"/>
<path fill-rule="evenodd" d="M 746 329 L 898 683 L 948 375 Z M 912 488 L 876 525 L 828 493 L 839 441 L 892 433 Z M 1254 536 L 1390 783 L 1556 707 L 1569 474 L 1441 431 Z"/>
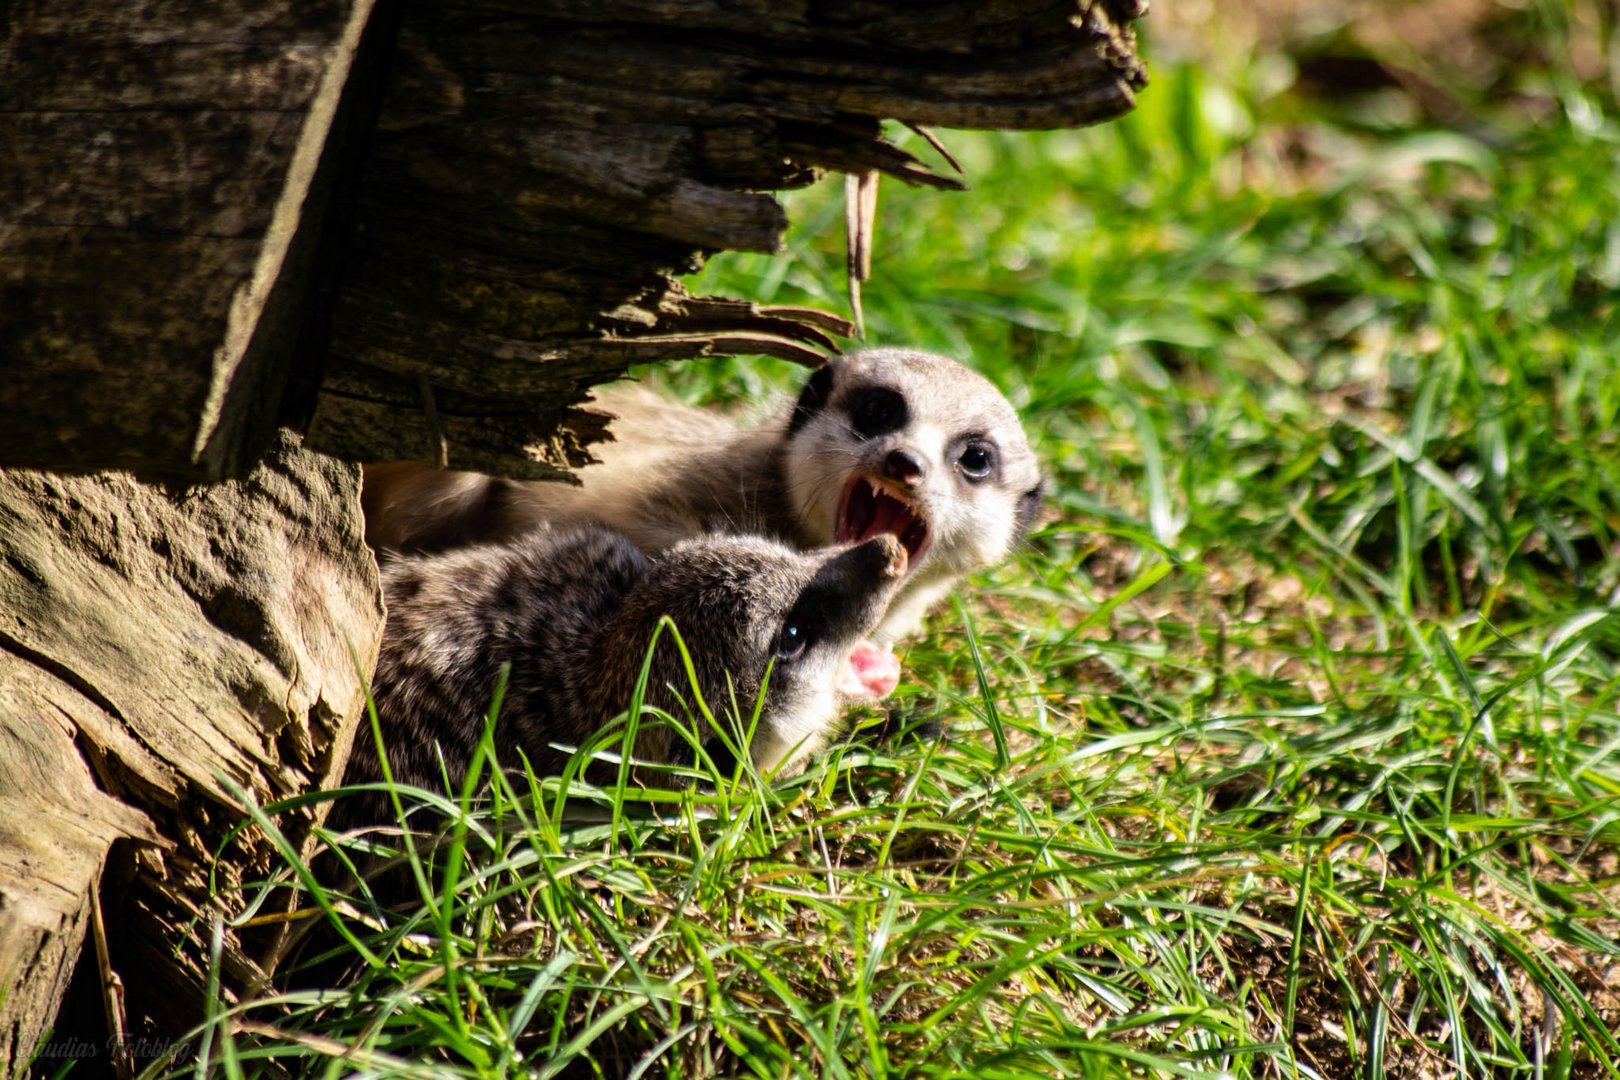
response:
<path fill-rule="evenodd" d="M 948 737 L 452 803 L 358 981 L 172 1067 L 1620 1075 L 1620 108 L 1560 10 L 1503 8 L 1534 55 L 1461 126 L 1150 49 L 1115 125 L 946 133 L 974 191 L 885 185 L 870 338 L 1053 479 L 906 656 Z M 695 288 L 841 309 L 839 189 L 791 210 Z"/>

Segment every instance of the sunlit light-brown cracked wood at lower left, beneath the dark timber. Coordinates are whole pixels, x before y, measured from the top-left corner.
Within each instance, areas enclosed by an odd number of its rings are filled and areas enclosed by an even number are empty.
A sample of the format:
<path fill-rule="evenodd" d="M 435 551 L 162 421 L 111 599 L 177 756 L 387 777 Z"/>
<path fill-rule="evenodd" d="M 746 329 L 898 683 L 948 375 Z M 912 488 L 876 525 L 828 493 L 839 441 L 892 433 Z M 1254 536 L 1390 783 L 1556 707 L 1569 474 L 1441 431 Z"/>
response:
<path fill-rule="evenodd" d="M 293 439 L 202 489 L 0 473 L 0 1075 L 55 1012 L 120 839 L 128 1001 L 194 1022 L 212 916 L 275 865 L 256 832 L 215 861 L 243 818 L 225 780 L 261 803 L 329 784 L 381 628 L 358 470 Z M 259 973 L 230 934 L 224 967 L 227 989 Z"/>

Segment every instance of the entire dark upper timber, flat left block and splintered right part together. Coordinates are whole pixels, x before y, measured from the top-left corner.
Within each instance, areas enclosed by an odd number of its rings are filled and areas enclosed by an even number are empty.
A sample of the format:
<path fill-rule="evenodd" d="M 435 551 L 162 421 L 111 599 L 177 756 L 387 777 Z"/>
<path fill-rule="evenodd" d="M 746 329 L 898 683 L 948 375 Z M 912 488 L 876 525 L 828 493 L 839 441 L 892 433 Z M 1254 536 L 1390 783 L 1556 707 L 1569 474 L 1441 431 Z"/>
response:
<path fill-rule="evenodd" d="M 1142 83 L 1134 0 L 374 3 L 10 5 L 0 465 L 217 479 L 290 419 L 556 476 L 627 364 L 847 334 L 676 283 L 779 246 L 766 189 L 953 186 L 881 121 L 1074 126 Z"/>

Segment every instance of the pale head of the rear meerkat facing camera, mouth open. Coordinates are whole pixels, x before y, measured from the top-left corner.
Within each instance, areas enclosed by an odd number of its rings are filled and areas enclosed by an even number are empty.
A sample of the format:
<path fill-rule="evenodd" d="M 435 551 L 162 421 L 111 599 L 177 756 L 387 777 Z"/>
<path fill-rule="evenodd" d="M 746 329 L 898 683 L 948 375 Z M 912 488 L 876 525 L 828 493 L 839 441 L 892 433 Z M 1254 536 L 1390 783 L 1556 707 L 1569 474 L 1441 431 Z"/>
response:
<path fill-rule="evenodd" d="M 1029 531 L 1042 478 L 1017 413 L 954 359 L 870 348 L 816 371 L 787 421 L 786 481 L 813 544 L 893 534 L 909 581 L 993 567 Z"/>

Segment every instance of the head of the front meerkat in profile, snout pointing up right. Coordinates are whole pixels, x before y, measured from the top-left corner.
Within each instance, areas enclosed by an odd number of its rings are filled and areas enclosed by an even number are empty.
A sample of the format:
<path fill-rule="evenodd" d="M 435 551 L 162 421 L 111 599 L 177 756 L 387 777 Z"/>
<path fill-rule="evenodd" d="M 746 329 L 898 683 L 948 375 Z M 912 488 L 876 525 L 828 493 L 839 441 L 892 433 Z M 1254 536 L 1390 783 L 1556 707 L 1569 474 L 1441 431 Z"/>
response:
<path fill-rule="evenodd" d="M 640 656 L 659 617 L 669 615 L 716 717 L 735 699 L 747 724 L 765 687 L 753 763 L 794 766 L 821 746 L 844 703 L 886 696 L 899 682 L 899 661 L 868 636 L 906 565 L 906 549 L 893 536 L 816 552 L 757 536 L 684 541 L 651 560 L 606 648 L 629 646 L 625 656 Z M 669 695 L 688 687 L 679 651 L 661 641 L 648 699 L 669 709 Z M 682 748 L 672 738 L 667 730 L 651 732 L 638 753 L 679 759 Z M 710 738 L 706 746 L 724 767 L 723 743 Z"/>

